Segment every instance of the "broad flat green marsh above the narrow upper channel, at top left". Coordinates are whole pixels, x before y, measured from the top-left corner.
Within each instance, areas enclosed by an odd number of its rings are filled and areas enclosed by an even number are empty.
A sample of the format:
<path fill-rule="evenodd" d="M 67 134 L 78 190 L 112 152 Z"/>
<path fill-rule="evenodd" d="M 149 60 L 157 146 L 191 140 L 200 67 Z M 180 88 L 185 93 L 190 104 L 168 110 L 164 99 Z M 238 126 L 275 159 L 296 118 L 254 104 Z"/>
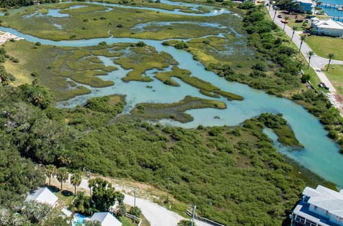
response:
<path fill-rule="evenodd" d="M 87 5 L 84 8 L 69 9 L 72 5 Z M 69 17 L 31 16 L 41 10 L 60 9 L 60 13 L 69 14 Z M 120 15 L 120 16 L 118 16 Z M 106 12 L 106 7 L 87 3 L 56 3 L 54 5 L 29 6 L 23 12 L 1 16 L 2 26 L 13 27 L 25 34 L 32 34 L 39 38 L 50 40 L 69 40 L 82 38 L 102 38 L 113 35 L 115 37 L 149 38 L 163 40 L 167 38 L 192 38 L 224 32 L 220 27 L 200 26 L 193 22 L 219 23 L 226 25 L 228 21 L 239 21 L 237 16 L 222 14 L 219 16 L 185 16 L 167 14 L 152 10 L 135 8 L 113 8 Z M 149 25 L 143 32 L 134 27 L 150 21 L 179 22 L 189 21 L 189 24 Z M 61 25 L 62 27 L 56 27 Z"/>

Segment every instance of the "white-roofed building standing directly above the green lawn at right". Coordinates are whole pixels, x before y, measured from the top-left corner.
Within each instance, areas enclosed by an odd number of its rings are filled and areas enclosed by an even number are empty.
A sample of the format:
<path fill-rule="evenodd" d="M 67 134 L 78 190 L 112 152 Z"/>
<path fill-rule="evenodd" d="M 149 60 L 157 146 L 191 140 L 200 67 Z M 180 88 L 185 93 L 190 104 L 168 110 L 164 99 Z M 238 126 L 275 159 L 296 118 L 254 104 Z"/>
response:
<path fill-rule="evenodd" d="M 317 35 L 343 37 L 343 23 L 339 21 L 312 18 L 311 27 Z"/>

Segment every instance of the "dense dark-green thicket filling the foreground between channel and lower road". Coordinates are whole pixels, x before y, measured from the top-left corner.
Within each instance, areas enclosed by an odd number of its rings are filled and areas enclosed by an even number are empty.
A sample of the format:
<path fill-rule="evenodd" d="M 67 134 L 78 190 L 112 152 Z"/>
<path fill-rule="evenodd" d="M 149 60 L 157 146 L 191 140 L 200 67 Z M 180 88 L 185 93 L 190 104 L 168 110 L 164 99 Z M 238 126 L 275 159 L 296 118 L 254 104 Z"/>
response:
<path fill-rule="evenodd" d="M 1 162 L 6 185 L 1 203 L 21 201 L 19 194 L 42 184 L 43 173 L 32 160 L 152 185 L 171 177 L 176 199 L 197 203 L 203 216 L 235 225 L 280 224 L 304 186 L 262 133 L 265 116 L 235 128 L 117 122 L 113 118 L 123 103 L 113 105 L 104 97 L 60 110 L 41 104 L 50 98 L 43 89 L 38 84 L 0 88 L 1 155 L 8 155 Z"/>

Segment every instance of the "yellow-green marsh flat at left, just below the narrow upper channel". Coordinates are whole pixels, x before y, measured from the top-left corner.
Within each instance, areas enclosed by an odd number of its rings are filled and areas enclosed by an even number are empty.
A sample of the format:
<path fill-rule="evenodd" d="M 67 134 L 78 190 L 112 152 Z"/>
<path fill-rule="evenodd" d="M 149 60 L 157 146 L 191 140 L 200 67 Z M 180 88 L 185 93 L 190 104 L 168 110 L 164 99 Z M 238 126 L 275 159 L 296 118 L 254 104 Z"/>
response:
<path fill-rule="evenodd" d="M 126 69 L 132 68 L 133 70 L 123 77 L 124 81 L 152 81 L 150 77 L 142 74 L 152 68 L 163 69 L 170 64 L 178 64 L 171 55 L 165 52 L 158 53 L 154 47 L 137 47 L 130 43 L 84 48 L 43 45 L 38 49 L 32 49 L 32 44 L 23 40 L 15 44 L 8 42 L 5 49 L 21 59 L 19 64 L 5 62 L 6 70 L 16 74 L 16 84 L 31 82 L 34 77 L 32 74 L 39 75 L 35 77 L 54 92 L 56 101 L 90 92 L 73 81 L 92 87 L 113 85 L 113 81 L 99 79 L 97 76 L 108 75 L 117 68 L 105 66 L 95 56 L 115 57 L 115 63 Z M 126 51 L 126 55 L 120 58 L 123 51 Z M 65 79 L 66 77 L 71 81 Z"/>

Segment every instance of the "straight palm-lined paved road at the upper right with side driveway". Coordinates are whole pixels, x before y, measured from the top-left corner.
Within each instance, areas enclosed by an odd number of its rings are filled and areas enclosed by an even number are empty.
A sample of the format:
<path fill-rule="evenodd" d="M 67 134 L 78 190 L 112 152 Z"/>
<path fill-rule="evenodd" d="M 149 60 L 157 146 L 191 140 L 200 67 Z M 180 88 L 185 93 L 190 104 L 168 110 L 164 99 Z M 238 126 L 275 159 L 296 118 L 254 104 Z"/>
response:
<path fill-rule="evenodd" d="M 269 2 L 270 3 L 270 2 Z M 269 6 L 267 6 L 267 9 L 269 8 Z M 274 18 L 274 14 L 275 14 L 275 10 L 270 7 L 270 10 L 269 10 L 269 14 L 272 18 Z M 278 25 L 279 27 L 281 27 L 281 29 L 283 29 L 283 26 L 284 24 L 281 23 L 281 18 L 278 18 L 277 16 L 279 15 L 278 12 L 276 12 L 276 17 L 274 19 L 274 23 L 276 25 Z M 292 37 L 292 34 L 293 34 L 293 29 L 291 27 L 289 27 L 288 25 L 285 26 L 285 33 L 287 34 L 287 36 L 289 36 L 289 38 Z M 300 39 L 300 33 L 299 32 L 296 32 L 293 36 L 293 39 L 292 41 L 294 42 L 294 44 L 299 48 L 300 47 L 300 43 L 301 43 L 301 39 Z M 309 51 L 312 51 L 312 49 L 309 47 L 309 45 L 307 45 L 306 42 L 303 42 L 303 45 L 301 47 L 301 53 L 303 53 L 303 55 L 305 56 L 307 62 L 308 62 L 308 53 Z M 325 64 L 328 64 L 329 62 L 329 59 L 327 58 L 322 58 L 318 55 L 314 55 L 312 58 L 311 58 L 311 64 L 310 66 L 312 68 L 314 68 L 314 70 L 316 71 L 319 79 L 324 82 L 324 84 L 326 84 L 329 88 L 330 88 L 330 92 L 335 95 L 336 93 L 336 89 L 335 87 L 333 87 L 333 85 L 331 84 L 331 82 L 329 81 L 329 79 L 327 78 L 327 76 L 322 73 L 320 71 L 320 68 L 324 68 L 324 65 Z M 340 60 L 331 60 L 331 64 L 343 64 L 343 61 L 340 61 Z M 314 84 L 316 85 L 316 84 Z"/>

